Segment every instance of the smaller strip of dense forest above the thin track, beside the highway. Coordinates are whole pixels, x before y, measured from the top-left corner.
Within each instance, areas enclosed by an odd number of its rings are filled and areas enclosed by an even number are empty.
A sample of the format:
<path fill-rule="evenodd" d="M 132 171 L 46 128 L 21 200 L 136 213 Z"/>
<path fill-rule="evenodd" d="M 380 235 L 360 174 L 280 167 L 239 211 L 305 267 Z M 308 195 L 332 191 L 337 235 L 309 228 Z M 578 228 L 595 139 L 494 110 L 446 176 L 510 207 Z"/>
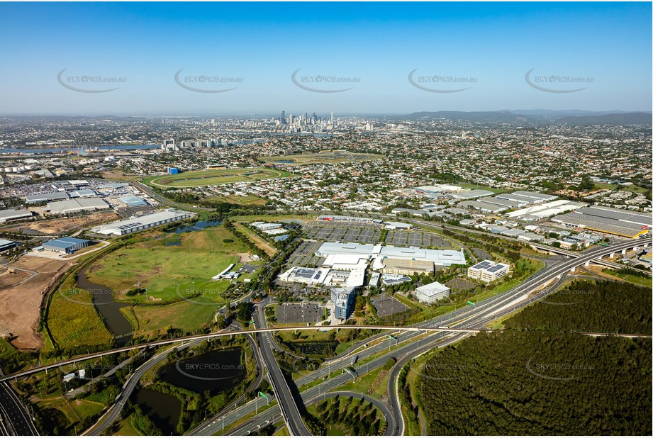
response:
<path fill-rule="evenodd" d="M 649 288 L 614 281 L 574 281 L 506 321 L 515 330 L 651 334 Z"/>

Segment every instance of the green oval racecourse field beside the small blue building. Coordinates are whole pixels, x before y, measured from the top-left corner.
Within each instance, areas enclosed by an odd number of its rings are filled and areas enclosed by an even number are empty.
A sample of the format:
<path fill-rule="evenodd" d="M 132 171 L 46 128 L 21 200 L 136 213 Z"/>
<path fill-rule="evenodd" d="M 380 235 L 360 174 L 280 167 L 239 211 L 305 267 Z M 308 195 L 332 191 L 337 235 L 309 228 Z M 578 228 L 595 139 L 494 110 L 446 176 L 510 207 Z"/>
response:
<path fill-rule="evenodd" d="M 193 172 L 182 172 L 177 175 L 150 176 L 143 179 L 145 184 L 160 189 L 188 188 L 229 184 L 240 181 L 258 181 L 261 179 L 284 178 L 291 176 L 289 172 L 267 167 L 211 169 Z"/>

